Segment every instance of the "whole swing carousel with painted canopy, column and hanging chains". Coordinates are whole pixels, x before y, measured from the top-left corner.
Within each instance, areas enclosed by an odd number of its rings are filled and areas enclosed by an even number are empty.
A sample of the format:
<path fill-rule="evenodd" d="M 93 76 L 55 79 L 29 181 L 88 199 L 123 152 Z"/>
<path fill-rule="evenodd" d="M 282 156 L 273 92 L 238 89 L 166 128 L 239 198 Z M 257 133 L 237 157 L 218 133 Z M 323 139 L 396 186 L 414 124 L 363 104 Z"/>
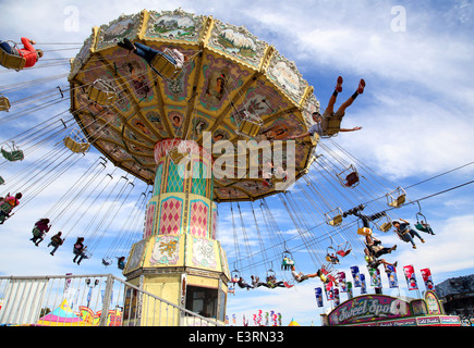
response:
<path fill-rule="evenodd" d="M 170 54 L 179 50 L 186 60 L 178 66 L 159 54 L 148 63 L 118 46 L 124 38 Z M 2 62 L 10 69 L 2 72 L 9 85 L 1 86 L 0 122 L 36 122 L 19 135 L 16 126 L 3 134 L 10 138 L 2 142 L 2 196 L 23 195 L 17 208 L 3 201 L 3 222 L 14 224 L 15 212 L 71 175 L 63 197 L 33 219 L 48 217 L 51 231 L 69 236 L 65 245 L 71 236 L 85 237 L 86 262 L 108 266 L 130 250 L 121 266 L 126 281 L 170 301 L 182 303 L 196 288 L 215 289 L 222 301 L 241 277 L 259 273 L 266 286 L 297 286 L 288 270 L 297 269 L 302 250 L 331 274 L 341 258 L 363 258 L 364 236 L 372 227 L 388 233 L 390 210 L 410 203 L 402 187 L 343 149 L 337 132 L 288 140 L 309 128 L 319 101 L 295 64 L 245 27 L 181 9 L 144 10 L 94 27 L 71 60 L 48 61 L 47 53 L 35 69 L 65 63 L 70 71 L 14 84 L 28 70 Z M 19 90 L 57 80 L 62 86 L 12 100 Z M 69 110 L 51 116 L 48 109 L 68 101 Z M 266 171 L 265 153 L 274 156 L 270 166 L 288 172 Z M 85 171 L 84 163 L 90 165 Z M 101 200 L 109 204 L 97 209 Z M 231 231 L 217 232 L 218 206 Z M 384 213 L 367 227 L 354 210 Z M 284 228 L 296 233 L 284 233 L 281 214 Z M 105 238 L 122 215 L 121 231 Z M 106 239 L 112 241 L 97 257 Z M 284 282 L 272 283 L 276 277 Z"/>

